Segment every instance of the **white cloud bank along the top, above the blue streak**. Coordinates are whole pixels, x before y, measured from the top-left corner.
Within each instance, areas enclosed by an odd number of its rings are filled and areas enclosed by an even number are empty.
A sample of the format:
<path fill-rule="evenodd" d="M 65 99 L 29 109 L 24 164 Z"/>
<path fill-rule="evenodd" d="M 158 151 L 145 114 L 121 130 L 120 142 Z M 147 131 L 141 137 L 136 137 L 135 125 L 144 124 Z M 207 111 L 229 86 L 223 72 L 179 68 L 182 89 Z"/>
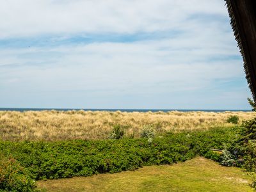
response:
<path fill-rule="evenodd" d="M 136 33 L 186 28 L 192 14 L 226 16 L 215 0 L 4 0 L 0 38 L 76 33 Z"/>

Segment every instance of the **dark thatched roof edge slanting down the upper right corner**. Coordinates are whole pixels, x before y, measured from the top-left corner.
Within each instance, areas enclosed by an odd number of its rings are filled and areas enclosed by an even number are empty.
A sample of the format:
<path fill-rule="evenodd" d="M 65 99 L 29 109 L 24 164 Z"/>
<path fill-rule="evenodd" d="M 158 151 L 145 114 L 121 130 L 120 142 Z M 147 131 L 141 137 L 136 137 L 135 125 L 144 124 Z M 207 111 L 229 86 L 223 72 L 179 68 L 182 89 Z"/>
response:
<path fill-rule="evenodd" d="M 244 61 L 244 72 L 256 101 L 256 0 L 225 0 L 230 24 Z"/>

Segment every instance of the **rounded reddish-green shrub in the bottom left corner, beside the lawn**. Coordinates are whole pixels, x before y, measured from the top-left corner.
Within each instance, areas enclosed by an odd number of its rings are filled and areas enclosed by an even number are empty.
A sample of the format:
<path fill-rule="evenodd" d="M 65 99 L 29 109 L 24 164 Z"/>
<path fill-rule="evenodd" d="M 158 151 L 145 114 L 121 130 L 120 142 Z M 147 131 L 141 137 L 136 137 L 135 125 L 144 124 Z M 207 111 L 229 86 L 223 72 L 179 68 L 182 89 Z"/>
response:
<path fill-rule="evenodd" d="M 12 157 L 0 154 L 0 191 L 34 191 L 35 180 Z"/>

